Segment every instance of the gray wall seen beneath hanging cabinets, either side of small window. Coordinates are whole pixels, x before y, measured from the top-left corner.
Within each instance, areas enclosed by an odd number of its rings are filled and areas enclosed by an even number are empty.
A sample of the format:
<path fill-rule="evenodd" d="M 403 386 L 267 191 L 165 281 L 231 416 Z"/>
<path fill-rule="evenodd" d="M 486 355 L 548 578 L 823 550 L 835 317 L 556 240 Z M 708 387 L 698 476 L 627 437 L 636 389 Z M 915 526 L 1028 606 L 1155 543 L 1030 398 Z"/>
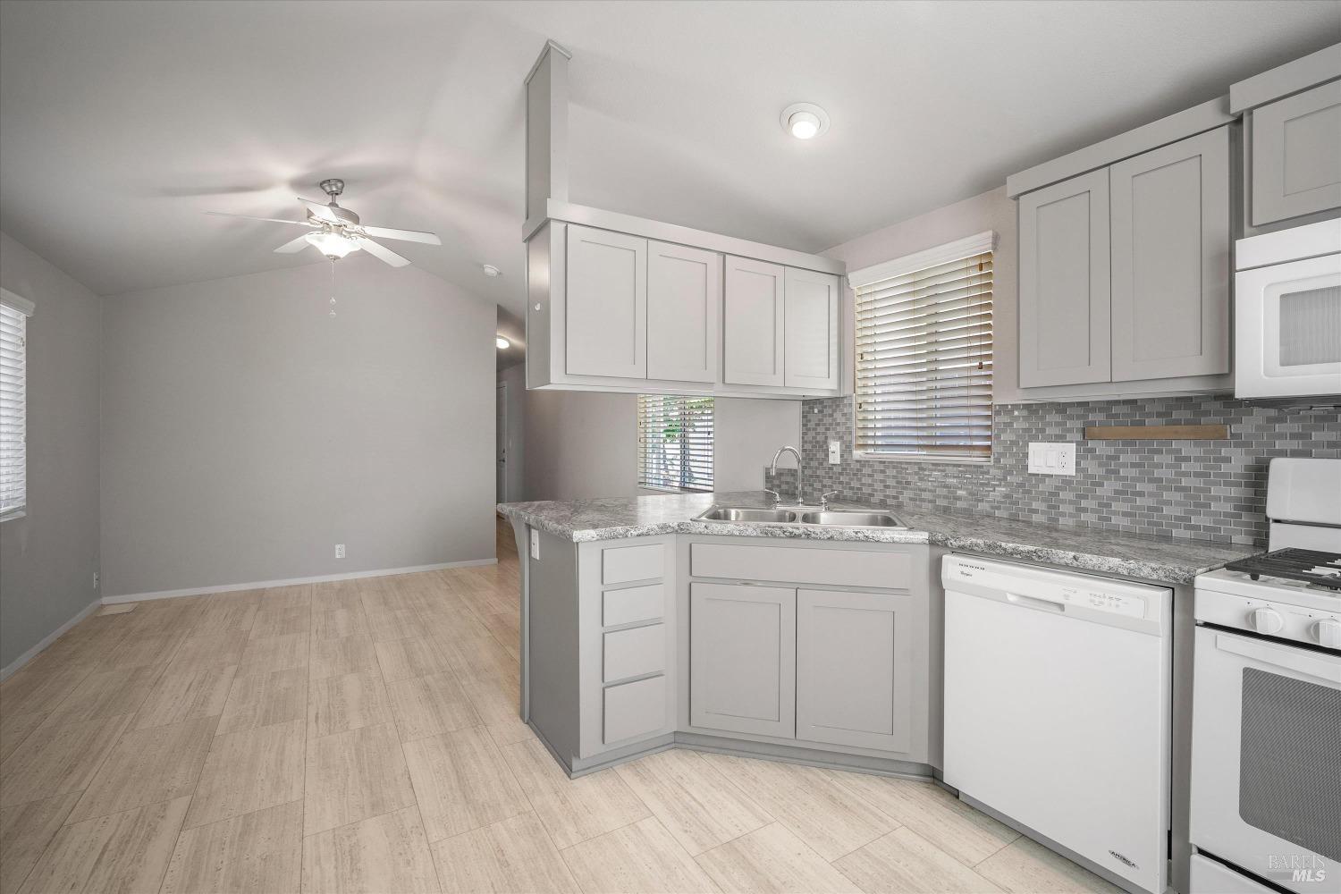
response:
<path fill-rule="evenodd" d="M 713 424 L 717 491 L 758 491 L 774 450 L 801 446 L 799 401 L 717 398 Z M 638 488 L 637 460 L 637 395 L 526 393 L 527 500 L 664 493 Z"/>

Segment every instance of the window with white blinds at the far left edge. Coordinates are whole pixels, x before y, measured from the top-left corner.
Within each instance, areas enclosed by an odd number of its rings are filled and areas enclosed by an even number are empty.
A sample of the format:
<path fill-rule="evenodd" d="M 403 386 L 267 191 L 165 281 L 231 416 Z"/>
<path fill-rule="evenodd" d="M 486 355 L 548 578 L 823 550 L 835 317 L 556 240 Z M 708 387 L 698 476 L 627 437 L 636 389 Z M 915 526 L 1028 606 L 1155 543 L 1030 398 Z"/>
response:
<path fill-rule="evenodd" d="M 32 304 L 0 290 L 0 521 L 28 504 L 27 366 Z"/>

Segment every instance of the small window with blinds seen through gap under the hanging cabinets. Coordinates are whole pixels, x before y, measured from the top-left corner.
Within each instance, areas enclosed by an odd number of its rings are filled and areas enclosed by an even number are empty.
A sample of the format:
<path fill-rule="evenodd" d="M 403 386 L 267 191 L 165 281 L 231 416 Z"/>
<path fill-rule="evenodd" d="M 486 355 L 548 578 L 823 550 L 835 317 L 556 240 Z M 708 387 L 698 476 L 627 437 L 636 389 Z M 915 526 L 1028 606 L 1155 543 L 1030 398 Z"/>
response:
<path fill-rule="evenodd" d="M 712 398 L 638 395 L 638 487 L 712 489 Z"/>

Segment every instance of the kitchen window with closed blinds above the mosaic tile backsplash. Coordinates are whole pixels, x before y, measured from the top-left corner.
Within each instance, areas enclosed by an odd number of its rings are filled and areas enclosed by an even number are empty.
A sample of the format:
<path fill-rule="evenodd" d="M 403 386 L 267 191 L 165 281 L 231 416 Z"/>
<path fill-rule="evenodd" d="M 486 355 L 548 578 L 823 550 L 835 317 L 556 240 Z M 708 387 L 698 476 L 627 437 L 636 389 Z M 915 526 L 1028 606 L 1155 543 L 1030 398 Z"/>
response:
<path fill-rule="evenodd" d="M 858 454 L 991 460 L 994 233 L 856 271 Z"/>

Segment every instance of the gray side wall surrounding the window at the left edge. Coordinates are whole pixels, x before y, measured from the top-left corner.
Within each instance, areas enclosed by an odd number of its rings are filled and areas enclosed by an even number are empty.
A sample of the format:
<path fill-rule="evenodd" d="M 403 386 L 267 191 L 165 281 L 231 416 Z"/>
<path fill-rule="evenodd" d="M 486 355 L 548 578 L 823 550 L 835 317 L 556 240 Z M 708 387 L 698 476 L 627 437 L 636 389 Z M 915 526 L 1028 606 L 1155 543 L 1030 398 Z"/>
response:
<path fill-rule="evenodd" d="M 0 233 L 28 320 L 28 509 L 0 523 L 0 667 L 98 596 L 98 298 Z"/>

